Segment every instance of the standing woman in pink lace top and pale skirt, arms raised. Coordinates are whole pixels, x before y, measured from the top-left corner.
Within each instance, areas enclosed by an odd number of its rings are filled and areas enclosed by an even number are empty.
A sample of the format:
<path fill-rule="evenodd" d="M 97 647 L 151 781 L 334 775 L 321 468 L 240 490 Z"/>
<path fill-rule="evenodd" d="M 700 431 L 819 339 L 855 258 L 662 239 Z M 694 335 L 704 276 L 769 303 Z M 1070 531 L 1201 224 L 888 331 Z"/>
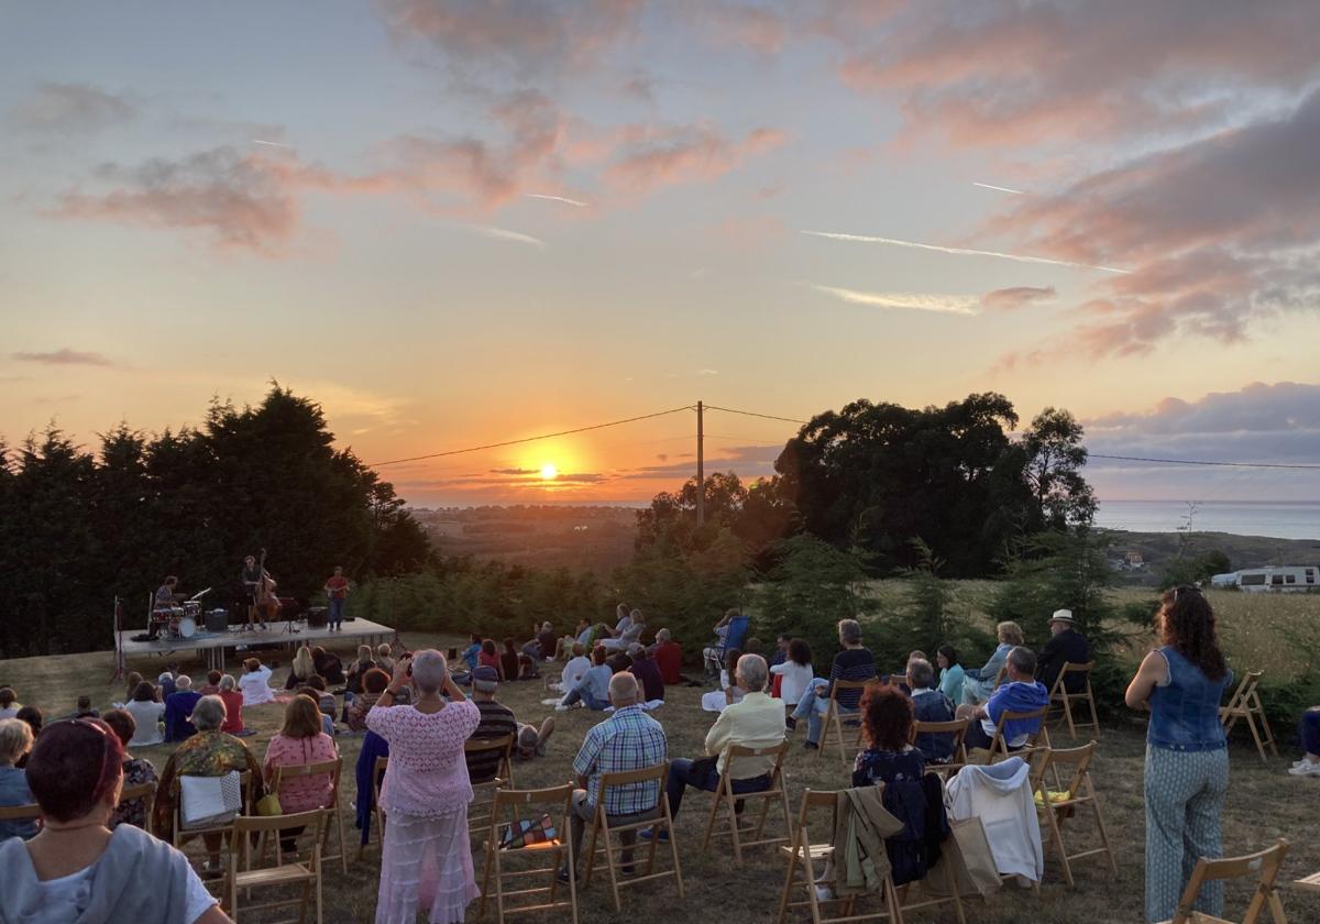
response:
<path fill-rule="evenodd" d="M 413 705 L 395 706 L 409 680 Z M 376 924 L 412 924 L 418 911 L 432 924 L 454 924 L 480 895 L 467 837 L 473 785 L 463 760 L 463 742 L 478 722 L 480 713 L 450 678 L 445 656 L 429 648 L 399 659 L 389 686 L 367 713 L 367 729 L 389 742 Z"/>

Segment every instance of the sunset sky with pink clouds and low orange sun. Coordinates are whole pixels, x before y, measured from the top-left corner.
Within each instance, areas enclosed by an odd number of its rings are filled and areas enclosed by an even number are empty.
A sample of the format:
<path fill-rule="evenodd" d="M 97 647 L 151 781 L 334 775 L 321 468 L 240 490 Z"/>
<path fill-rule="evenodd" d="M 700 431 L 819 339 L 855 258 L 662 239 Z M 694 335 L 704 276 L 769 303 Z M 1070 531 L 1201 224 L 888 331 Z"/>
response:
<path fill-rule="evenodd" d="M 999 391 L 1097 453 L 1313 463 L 1317 34 L 1313 0 L 7 4 L 0 434 L 277 379 L 383 462 Z M 694 426 L 381 471 L 638 502 Z M 708 469 L 795 429 L 713 412 Z"/>

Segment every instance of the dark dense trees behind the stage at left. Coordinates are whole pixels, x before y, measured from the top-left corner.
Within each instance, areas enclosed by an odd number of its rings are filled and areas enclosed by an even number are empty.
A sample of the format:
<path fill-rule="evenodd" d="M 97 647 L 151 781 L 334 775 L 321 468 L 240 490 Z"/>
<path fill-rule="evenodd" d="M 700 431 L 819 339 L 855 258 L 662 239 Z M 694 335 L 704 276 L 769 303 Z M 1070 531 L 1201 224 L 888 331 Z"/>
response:
<path fill-rule="evenodd" d="M 153 437 L 120 424 L 95 449 L 54 426 L 0 442 L 0 656 L 108 648 L 114 599 L 143 626 L 166 574 L 213 587 L 205 609 L 235 606 L 261 548 L 279 593 L 305 601 L 334 565 L 355 581 L 421 568 L 432 550 L 404 502 L 333 442 L 319 405 L 279 384 Z"/>

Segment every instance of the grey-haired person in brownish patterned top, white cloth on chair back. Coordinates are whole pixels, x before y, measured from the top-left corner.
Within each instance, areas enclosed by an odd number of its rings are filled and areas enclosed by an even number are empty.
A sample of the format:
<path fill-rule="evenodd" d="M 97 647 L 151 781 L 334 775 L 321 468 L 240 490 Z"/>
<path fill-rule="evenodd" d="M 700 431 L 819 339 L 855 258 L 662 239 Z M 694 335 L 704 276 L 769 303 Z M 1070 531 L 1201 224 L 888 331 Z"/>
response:
<path fill-rule="evenodd" d="M 224 701 L 218 696 L 203 696 L 193 708 L 193 725 L 197 734 L 181 743 L 169 755 L 161 770 L 160 785 L 156 787 L 156 804 L 152 807 L 152 833 L 165 841 L 174 838 L 174 781 L 181 776 L 226 776 L 230 772 L 252 775 L 252 804 L 261 797 L 265 787 L 261 783 L 261 764 L 248 750 L 248 746 L 234 735 L 220 731 L 224 725 Z M 220 843 L 223 834 L 203 834 L 202 841 L 210 859 L 207 874 L 220 873 Z"/>

